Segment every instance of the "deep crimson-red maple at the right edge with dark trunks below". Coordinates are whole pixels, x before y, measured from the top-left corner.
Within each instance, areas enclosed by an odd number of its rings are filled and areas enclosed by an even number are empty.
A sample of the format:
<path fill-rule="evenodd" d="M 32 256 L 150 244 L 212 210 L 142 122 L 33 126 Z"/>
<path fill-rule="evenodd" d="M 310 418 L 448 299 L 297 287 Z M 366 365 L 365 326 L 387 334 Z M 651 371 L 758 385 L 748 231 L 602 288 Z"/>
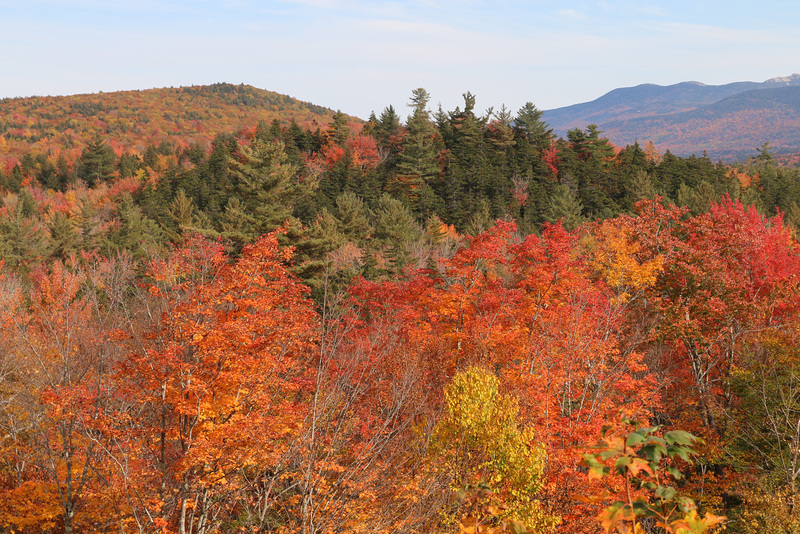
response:
<path fill-rule="evenodd" d="M 658 366 L 677 375 L 673 413 L 715 429 L 723 383 L 741 351 L 797 310 L 800 254 L 780 217 L 768 220 L 729 198 L 686 220 L 685 210 L 657 202 L 639 210 L 631 221 L 639 256 L 664 258 L 648 294 L 653 308 L 643 313 L 656 314 L 654 337 L 668 348 Z"/>

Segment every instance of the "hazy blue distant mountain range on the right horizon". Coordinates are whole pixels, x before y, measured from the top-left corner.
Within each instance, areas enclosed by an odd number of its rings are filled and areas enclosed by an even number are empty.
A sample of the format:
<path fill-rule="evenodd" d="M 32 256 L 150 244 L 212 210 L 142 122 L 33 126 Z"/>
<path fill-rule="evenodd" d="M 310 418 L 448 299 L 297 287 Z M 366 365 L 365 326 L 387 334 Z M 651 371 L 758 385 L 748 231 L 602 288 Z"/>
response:
<path fill-rule="evenodd" d="M 762 83 L 615 89 L 592 102 L 548 110 L 558 135 L 596 124 L 614 144 L 652 141 L 659 150 L 737 160 L 769 142 L 779 153 L 800 151 L 800 74 Z"/>

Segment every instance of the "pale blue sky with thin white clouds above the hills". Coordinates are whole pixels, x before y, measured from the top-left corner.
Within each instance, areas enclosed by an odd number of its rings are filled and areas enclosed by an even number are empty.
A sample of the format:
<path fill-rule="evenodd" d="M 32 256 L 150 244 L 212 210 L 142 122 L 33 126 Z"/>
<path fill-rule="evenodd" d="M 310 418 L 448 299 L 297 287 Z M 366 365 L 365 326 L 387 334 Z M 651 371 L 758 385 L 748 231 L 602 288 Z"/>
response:
<path fill-rule="evenodd" d="M 800 72 L 800 2 L 0 0 L 0 98 L 228 82 L 361 118 Z"/>

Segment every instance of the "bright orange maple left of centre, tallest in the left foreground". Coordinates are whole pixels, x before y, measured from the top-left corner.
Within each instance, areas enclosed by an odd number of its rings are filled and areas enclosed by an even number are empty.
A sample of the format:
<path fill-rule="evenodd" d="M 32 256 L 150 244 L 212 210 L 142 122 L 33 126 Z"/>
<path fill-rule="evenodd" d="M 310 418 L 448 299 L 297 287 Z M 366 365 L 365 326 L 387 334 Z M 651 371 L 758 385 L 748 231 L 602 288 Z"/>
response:
<path fill-rule="evenodd" d="M 121 453 L 140 459 L 120 476 L 147 528 L 213 528 L 237 513 L 224 496 L 261 483 L 250 471 L 277 469 L 293 446 L 314 384 L 315 314 L 289 254 L 273 233 L 229 264 L 198 238 L 152 265 L 161 326 L 116 377 L 142 407 L 116 432 Z"/>

